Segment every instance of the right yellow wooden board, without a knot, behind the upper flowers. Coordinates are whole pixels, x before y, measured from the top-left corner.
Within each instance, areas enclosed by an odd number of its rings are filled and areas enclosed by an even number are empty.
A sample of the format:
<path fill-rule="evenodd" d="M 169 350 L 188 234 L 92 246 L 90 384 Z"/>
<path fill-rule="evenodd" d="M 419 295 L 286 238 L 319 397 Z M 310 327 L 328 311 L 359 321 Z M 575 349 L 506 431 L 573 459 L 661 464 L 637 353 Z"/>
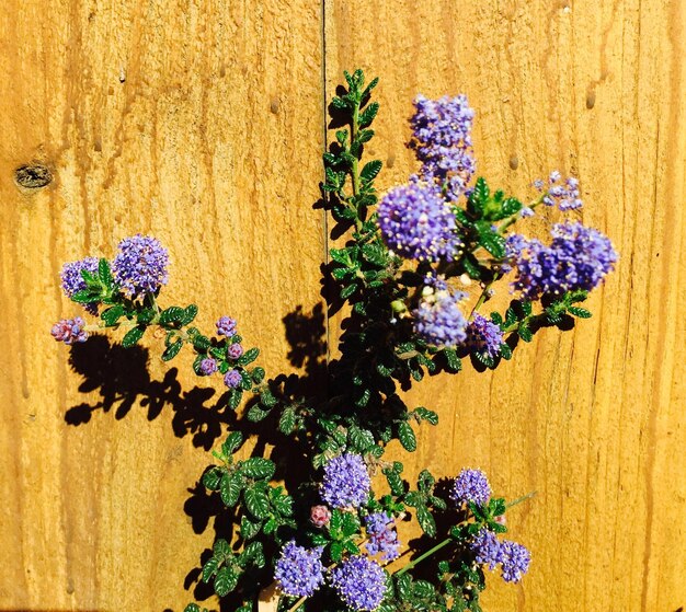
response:
<path fill-rule="evenodd" d="M 546 331 L 493 374 L 422 383 L 438 408 L 416 472 L 480 466 L 533 550 L 521 586 L 493 576 L 487 610 L 675 611 L 686 605 L 684 20 L 666 1 L 325 3 L 327 83 L 381 77 L 382 187 L 414 165 L 416 93 L 464 92 L 479 173 L 526 194 L 550 170 L 582 181 L 584 222 L 621 261 L 568 334 Z M 552 218 L 539 221 L 537 231 Z M 681 474 L 681 476 L 679 476 Z"/>

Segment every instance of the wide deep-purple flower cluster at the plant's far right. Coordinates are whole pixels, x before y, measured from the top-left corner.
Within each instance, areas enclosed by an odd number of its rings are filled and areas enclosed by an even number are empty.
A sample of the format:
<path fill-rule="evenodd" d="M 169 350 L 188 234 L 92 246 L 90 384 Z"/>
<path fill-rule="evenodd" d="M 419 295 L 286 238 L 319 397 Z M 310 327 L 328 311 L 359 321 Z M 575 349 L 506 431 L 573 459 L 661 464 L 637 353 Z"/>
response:
<path fill-rule="evenodd" d="M 617 253 L 607 236 L 579 222 L 553 226 L 549 245 L 521 241 L 513 287 L 528 299 L 567 291 L 591 291 L 615 267 Z"/>

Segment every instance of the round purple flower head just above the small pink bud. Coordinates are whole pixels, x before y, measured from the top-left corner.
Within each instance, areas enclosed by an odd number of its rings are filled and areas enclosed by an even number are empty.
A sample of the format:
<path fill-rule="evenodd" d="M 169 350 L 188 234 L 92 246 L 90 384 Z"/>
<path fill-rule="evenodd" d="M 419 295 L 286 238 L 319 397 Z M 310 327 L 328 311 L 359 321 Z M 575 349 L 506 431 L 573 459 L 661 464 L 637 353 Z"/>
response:
<path fill-rule="evenodd" d="M 356 508 L 367 501 L 370 488 L 369 472 L 364 460 L 348 452 L 327 462 L 319 492 L 332 508 Z"/>

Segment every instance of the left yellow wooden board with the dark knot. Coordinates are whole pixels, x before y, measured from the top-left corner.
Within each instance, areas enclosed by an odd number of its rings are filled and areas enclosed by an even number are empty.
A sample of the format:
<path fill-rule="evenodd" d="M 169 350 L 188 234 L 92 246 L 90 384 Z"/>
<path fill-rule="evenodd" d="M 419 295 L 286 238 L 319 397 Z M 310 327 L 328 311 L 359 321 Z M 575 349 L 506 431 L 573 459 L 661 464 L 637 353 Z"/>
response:
<path fill-rule="evenodd" d="M 202 520 L 184 504 L 209 459 L 195 444 L 214 438 L 218 394 L 191 392 L 186 355 L 173 378 L 181 400 L 151 423 L 160 411 L 145 405 L 150 385 L 139 381 L 129 411 L 115 400 L 68 425 L 103 388 L 80 393 L 83 377 L 49 336 L 53 321 L 77 313 L 58 273 L 152 233 L 172 258 L 168 303 L 196 300 L 208 331 L 221 314 L 238 317 L 270 372 L 291 369 L 282 319 L 320 299 L 324 250 L 311 208 L 321 10 L 310 0 L 18 0 L 2 13 L 0 609 L 182 610 L 193 600 L 186 574 L 214 538 L 211 524 L 194 533 Z M 19 188 L 14 170 L 34 161 L 54 182 Z M 163 395 L 158 355 L 149 370 Z M 94 367 L 126 379 L 126 359 Z"/>

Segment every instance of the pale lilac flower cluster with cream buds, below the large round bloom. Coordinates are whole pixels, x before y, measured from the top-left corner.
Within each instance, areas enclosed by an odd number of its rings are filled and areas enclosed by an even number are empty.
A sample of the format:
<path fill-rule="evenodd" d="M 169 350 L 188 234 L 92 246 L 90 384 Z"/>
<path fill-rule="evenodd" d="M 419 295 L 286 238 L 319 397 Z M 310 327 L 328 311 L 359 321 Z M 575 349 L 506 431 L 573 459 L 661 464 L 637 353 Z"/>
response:
<path fill-rule="evenodd" d="M 445 284 L 426 287 L 424 297 L 412 311 L 414 332 L 435 346 L 457 346 L 467 338 L 467 320 L 459 308 L 464 293 L 451 293 Z"/>

